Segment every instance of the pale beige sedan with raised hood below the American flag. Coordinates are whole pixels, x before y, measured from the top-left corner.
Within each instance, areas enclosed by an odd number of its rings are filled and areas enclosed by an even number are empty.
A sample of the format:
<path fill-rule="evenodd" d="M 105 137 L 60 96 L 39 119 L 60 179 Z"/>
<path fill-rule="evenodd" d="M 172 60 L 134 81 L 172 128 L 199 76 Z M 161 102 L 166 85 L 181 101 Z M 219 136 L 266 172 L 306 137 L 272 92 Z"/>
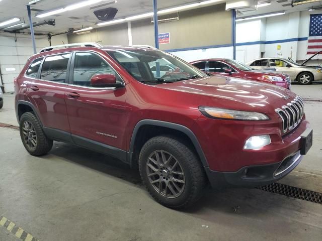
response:
<path fill-rule="evenodd" d="M 256 59 L 246 64 L 254 69 L 274 68 L 278 72 L 288 74 L 291 77 L 291 81 L 297 81 L 299 84 L 310 84 L 314 80 L 322 80 L 322 68 L 320 66 L 304 65 L 308 60 L 298 64 L 290 58 L 276 57 Z"/>

